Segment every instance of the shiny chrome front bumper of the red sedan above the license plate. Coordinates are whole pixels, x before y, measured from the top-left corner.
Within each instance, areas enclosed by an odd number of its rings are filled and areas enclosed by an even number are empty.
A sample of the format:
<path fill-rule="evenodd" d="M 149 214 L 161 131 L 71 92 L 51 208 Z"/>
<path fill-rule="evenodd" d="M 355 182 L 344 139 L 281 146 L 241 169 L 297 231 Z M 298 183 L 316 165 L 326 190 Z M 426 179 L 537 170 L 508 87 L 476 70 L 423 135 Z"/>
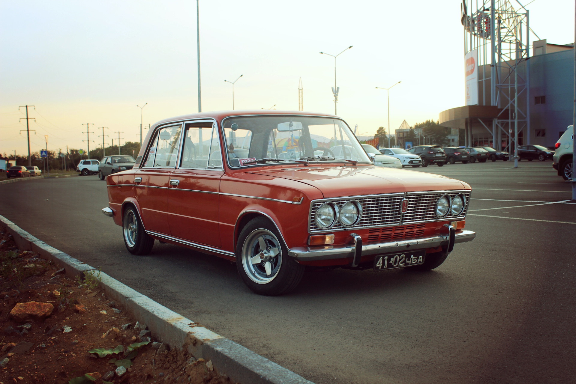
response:
<path fill-rule="evenodd" d="M 454 233 L 454 244 L 472 241 L 476 237 L 473 231 L 463 230 Z M 357 241 L 346 246 L 323 246 L 323 247 L 295 247 L 288 250 L 289 256 L 303 261 L 315 260 L 332 260 L 335 258 L 354 257 L 357 260 Z M 434 248 L 441 245 L 449 245 L 450 234 L 442 234 L 432 237 L 423 237 L 418 239 L 409 239 L 401 241 L 391 241 L 385 243 L 375 243 L 361 245 L 361 254 L 359 256 L 369 256 L 382 253 L 404 252 L 408 249 Z M 357 256 L 357 257 L 355 257 Z"/>

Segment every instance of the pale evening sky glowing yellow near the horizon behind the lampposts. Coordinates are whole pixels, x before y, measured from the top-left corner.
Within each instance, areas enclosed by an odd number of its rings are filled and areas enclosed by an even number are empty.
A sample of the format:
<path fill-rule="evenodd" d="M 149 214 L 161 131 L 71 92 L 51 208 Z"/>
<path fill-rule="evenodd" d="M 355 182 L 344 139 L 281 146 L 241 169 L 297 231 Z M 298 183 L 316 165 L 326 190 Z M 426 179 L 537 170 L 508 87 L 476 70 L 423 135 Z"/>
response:
<path fill-rule="evenodd" d="M 523 4 L 529 0 L 521 1 Z M 513 0 L 512 5 L 520 9 Z M 202 110 L 334 113 L 359 135 L 438 119 L 464 105 L 460 2 L 200 0 Z M 535 0 L 530 26 L 548 43 L 574 42 L 574 1 Z M 534 39 L 534 37 L 531 37 Z M 111 139 L 139 141 L 143 125 L 198 111 L 196 2 L 0 0 L 0 154 Z M 572 79 L 569 79 L 572 81 Z M 142 106 L 148 103 L 142 110 Z M 92 125 L 94 124 L 94 125 Z M 100 127 L 105 127 L 104 130 Z M 146 134 L 146 130 L 144 131 Z M 100 136 L 100 137 L 98 137 Z"/>

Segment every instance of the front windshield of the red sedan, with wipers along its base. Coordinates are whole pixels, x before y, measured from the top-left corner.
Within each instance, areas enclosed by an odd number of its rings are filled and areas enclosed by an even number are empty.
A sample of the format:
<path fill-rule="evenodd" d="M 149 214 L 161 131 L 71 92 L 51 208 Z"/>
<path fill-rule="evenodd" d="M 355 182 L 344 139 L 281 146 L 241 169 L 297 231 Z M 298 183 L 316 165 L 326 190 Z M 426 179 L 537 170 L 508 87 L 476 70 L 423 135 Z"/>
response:
<path fill-rule="evenodd" d="M 313 116 L 238 116 L 222 121 L 231 167 L 305 159 L 370 162 L 342 120 Z M 264 161 L 263 161 L 264 162 Z M 249 163 L 249 164 L 247 164 Z"/>

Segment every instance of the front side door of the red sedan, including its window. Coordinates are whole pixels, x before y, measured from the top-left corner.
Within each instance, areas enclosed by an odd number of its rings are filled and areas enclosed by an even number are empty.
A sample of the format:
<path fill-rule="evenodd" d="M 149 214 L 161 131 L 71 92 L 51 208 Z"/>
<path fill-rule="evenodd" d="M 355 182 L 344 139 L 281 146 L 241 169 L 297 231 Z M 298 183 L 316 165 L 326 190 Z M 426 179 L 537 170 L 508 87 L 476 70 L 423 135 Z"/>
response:
<path fill-rule="evenodd" d="M 168 213 L 173 237 L 219 247 L 219 195 L 223 175 L 213 120 L 184 123 L 179 166 L 170 174 Z"/>

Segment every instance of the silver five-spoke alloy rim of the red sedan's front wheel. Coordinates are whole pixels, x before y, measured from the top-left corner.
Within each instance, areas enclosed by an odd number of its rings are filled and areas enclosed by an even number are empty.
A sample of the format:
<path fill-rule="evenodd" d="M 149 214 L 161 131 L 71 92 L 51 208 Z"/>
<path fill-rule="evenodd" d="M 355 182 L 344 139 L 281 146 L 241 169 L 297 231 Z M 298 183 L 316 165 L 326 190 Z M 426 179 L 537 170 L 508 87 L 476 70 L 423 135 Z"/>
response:
<path fill-rule="evenodd" d="M 253 230 L 242 245 L 242 266 L 257 284 L 270 283 L 282 266 L 282 248 L 276 235 L 267 229 Z"/>

